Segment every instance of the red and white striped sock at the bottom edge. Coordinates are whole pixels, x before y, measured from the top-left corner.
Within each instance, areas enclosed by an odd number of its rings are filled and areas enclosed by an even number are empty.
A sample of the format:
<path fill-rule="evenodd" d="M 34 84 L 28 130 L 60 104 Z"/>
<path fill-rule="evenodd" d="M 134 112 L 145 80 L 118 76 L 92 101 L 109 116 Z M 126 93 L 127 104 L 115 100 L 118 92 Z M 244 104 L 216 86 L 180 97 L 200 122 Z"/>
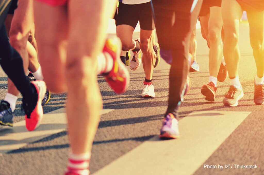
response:
<path fill-rule="evenodd" d="M 90 153 L 70 154 L 65 175 L 89 175 Z"/>

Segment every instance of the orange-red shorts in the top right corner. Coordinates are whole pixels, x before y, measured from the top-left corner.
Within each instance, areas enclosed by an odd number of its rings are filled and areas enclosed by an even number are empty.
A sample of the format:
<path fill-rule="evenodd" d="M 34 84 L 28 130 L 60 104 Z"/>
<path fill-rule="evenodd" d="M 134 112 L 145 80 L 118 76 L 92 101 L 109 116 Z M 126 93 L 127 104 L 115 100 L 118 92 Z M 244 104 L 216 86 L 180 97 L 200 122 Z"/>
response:
<path fill-rule="evenodd" d="M 263 0 L 237 0 L 244 11 L 264 11 Z"/>

